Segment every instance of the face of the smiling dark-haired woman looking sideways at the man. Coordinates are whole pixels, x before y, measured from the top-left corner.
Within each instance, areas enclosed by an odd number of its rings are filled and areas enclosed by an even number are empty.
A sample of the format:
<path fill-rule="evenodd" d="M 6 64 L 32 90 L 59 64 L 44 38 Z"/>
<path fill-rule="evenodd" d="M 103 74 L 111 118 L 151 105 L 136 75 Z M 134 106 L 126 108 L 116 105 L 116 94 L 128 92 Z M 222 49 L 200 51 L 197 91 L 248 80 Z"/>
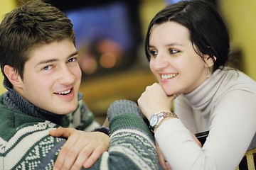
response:
<path fill-rule="evenodd" d="M 194 45 L 197 50 L 197 47 Z M 174 21 L 153 26 L 150 69 L 168 96 L 188 94 L 207 79 L 208 67 L 195 52 L 189 30 Z M 203 55 L 207 59 L 208 55 Z"/>

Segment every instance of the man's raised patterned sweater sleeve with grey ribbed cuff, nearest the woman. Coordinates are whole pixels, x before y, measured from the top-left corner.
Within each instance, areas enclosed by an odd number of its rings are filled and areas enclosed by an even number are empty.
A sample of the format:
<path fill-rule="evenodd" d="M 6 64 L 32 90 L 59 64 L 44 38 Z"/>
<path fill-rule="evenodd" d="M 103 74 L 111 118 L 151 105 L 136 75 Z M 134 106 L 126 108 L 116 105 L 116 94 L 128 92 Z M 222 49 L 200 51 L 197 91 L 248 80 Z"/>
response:
<path fill-rule="evenodd" d="M 110 169 L 159 169 L 154 138 L 136 103 L 116 101 L 107 114 L 112 132 L 110 149 L 90 169 L 100 169 L 102 164 Z"/>

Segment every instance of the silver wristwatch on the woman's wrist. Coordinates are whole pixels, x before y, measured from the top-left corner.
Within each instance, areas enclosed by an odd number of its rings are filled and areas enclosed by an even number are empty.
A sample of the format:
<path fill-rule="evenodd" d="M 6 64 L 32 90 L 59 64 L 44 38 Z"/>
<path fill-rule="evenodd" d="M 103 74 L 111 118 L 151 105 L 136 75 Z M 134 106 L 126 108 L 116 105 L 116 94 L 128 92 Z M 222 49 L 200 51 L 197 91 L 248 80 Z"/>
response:
<path fill-rule="evenodd" d="M 178 116 L 175 113 L 172 112 L 159 112 L 154 113 L 154 115 L 151 116 L 149 120 L 149 128 L 152 132 L 154 132 L 154 129 L 159 126 L 162 120 L 164 118 L 171 117 L 171 118 L 178 118 Z"/>

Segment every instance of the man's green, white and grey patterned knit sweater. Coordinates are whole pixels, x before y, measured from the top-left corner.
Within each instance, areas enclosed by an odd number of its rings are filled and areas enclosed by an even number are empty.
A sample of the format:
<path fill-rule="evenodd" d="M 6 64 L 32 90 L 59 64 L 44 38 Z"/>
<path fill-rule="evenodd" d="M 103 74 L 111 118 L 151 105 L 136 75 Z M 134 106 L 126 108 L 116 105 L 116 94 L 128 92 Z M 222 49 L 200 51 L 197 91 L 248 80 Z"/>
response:
<path fill-rule="evenodd" d="M 58 128 L 58 116 L 36 108 L 9 89 L 0 96 L 0 169 L 53 169 L 65 144 L 61 137 L 48 135 Z M 131 101 L 117 101 L 108 110 L 110 149 L 90 169 L 161 169 L 154 137 Z M 63 118 L 66 127 L 85 129 L 93 115 L 82 101 Z M 65 124 L 65 123 L 64 123 Z"/>

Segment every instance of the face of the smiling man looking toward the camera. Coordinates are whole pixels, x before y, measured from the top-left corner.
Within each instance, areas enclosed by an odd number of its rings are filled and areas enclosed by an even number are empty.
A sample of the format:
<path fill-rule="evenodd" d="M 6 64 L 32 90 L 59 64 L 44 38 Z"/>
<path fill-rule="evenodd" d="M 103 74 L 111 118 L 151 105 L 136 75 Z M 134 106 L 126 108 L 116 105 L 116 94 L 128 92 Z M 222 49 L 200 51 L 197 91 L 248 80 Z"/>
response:
<path fill-rule="evenodd" d="M 81 82 L 78 52 L 70 40 L 35 47 L 24 65 L 23 98 L 38 108 L 58 115 L 75 111 Z"/>

